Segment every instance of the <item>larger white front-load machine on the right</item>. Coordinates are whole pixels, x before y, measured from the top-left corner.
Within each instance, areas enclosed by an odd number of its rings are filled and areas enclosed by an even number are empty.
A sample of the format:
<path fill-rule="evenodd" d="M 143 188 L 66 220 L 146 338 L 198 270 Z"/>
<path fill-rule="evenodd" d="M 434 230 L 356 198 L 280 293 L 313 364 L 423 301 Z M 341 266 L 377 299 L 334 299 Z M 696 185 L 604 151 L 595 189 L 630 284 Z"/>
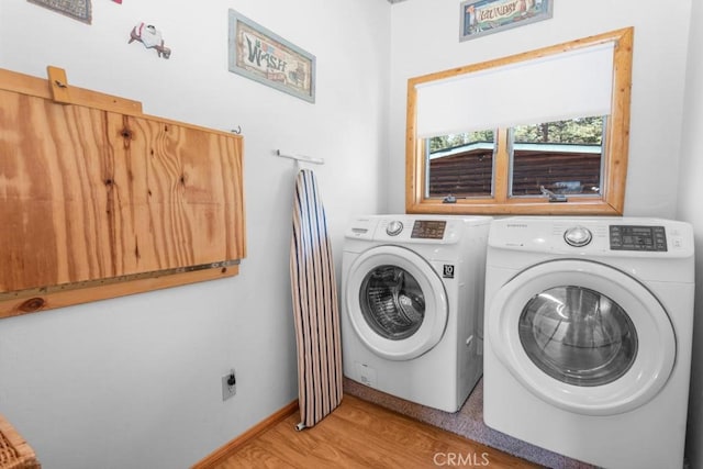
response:
<path fill-rule="evenodd" d="M 493 221 L 483 418 L 605 468 L 681 468 L 694 294 L 687 223 Z"/>

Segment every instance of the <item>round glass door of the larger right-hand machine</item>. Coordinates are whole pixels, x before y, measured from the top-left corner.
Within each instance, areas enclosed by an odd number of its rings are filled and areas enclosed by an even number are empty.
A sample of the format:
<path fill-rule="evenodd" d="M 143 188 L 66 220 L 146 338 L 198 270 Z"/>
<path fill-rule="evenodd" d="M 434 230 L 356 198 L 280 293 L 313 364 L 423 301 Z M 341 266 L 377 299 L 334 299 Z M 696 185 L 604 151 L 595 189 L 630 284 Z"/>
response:
<path fill-rule="evenodd" d="M 676 336 L 654 294 L 628 275 L 589 260 L 528 268 L 487 312 L 491 348 L 543 401 L 585 415 L 636 409 L 666 384 Z"/>

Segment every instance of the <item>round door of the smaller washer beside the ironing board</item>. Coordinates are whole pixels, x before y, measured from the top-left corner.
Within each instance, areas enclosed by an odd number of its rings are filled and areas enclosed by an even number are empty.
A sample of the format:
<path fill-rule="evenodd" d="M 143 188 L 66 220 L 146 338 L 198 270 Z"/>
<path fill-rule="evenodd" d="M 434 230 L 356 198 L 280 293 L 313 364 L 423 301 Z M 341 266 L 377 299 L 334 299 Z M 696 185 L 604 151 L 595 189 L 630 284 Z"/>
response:
<path fill-rule="evenodd" d="M 349 267 L 345 311 L 359 339 L 376 355 L 410 360 L 444 335 L 448 303 L 429 263 L 400 246 L 378 246 Z"/>

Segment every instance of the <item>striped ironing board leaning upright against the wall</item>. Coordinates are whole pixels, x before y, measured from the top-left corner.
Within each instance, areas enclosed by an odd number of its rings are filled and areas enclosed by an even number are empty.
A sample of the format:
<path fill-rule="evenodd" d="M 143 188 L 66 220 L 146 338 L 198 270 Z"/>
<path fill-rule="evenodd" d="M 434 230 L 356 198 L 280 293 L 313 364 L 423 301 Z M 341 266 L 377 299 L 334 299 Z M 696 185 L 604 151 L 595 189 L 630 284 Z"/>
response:
<path fill-rule="evenodd" d="M 293 205 L 290 277 L 298 342 L 298 429 L 302 429 L 342 402 L 342 344 L 327 221 L 310 169 L 298 172 Z"/>

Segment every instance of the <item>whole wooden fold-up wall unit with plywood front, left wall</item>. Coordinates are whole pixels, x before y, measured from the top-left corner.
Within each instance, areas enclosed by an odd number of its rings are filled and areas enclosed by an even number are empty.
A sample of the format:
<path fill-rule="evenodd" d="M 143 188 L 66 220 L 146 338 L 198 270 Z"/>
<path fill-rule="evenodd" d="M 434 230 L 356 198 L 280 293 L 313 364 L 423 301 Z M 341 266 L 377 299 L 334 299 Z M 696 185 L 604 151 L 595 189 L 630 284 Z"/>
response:
<path fill-rule="evenodd" d="M 62 79 L 0 70 L 0 317 L 236 275 L 242 137 Z"/>

